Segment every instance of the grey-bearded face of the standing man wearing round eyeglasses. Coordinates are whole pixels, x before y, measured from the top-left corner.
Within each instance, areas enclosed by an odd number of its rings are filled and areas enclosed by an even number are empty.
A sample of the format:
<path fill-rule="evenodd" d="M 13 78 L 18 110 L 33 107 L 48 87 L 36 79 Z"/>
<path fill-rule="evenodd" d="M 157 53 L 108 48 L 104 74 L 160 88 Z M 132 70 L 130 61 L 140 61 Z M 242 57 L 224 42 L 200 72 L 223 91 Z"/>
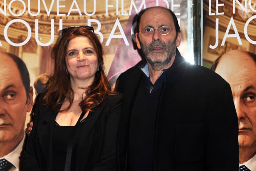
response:
<path fill-rule="evenodd" d="M 162 35 L 157 30 L 164 25 L 173 28 L 167 35 Z M 176 38 L 173 16 L 166 9 L 148 9 L 141 16 L 139 31 L 142 31 L 146 27 L 151 27 L 156 30 L 154 30 L 154 34 L 151 36 L 144 36 L 143 33 L 136 33 L 136 43 L 138 48 L 142 49 L 147 62 L 149 62 L 155 70 L 169 67 L 171 59 L 175 56 L 176 47 L 181 43 L 180 33 L 178 33 Z"/>

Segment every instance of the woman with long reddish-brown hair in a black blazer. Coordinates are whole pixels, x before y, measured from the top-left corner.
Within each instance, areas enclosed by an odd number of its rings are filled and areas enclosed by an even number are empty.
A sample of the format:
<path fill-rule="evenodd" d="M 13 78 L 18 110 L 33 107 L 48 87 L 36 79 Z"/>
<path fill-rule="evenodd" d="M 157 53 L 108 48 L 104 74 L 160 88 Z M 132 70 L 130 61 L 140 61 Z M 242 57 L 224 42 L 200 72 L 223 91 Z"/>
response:
<path fill-rule="evenodd" d="M 63 29 L 52 55 L 54 73 L 35 106 L 24 170 L 117 170 L 122 95 L 111 91 L 93 28 Z"/>

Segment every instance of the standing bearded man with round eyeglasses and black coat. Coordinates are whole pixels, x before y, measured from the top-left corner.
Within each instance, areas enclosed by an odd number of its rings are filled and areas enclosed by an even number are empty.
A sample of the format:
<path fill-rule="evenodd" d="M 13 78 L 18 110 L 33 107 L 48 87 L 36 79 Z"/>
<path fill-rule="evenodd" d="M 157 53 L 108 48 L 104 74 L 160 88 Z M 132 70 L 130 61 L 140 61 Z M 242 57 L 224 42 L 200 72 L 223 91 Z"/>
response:
<path fill-rule="evenodd" d="M 136 43 L 145 60 L 122 73 L 117 140 L 120 171 L 236 171 L 238 121 L 230 85 L 178 51 L 177 17 L 141 11 Z"/>

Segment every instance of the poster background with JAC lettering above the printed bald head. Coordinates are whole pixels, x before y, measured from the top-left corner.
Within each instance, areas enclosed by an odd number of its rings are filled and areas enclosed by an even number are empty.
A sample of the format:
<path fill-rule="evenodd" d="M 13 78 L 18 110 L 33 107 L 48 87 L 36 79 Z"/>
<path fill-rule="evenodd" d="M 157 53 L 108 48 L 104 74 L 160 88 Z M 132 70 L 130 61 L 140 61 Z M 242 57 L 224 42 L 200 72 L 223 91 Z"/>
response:
<path fill-rule="evenodd" d="M 241 49 L 256 54 L 256 0 L 203 0 L 203 66 Z"/>

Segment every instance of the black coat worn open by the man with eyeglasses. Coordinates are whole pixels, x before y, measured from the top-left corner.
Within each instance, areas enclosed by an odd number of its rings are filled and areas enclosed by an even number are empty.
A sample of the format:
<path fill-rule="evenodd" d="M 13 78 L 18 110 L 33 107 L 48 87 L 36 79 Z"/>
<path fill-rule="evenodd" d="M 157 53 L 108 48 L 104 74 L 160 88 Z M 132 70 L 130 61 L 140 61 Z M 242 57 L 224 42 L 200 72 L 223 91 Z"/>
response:
<path fill-rule="evenodd" d="M 128 69 L 117 81 L 123 109 L 117 137 L 119 171 L 125 170 L 133 98 L 142 72 Z M 176 50 L 158 102 L 154 171 L 238 171 L 238 121 L 230 85 L 218 74 L 185 62 Z M 130 133 L 131 134 L 131 133 Z"/>

